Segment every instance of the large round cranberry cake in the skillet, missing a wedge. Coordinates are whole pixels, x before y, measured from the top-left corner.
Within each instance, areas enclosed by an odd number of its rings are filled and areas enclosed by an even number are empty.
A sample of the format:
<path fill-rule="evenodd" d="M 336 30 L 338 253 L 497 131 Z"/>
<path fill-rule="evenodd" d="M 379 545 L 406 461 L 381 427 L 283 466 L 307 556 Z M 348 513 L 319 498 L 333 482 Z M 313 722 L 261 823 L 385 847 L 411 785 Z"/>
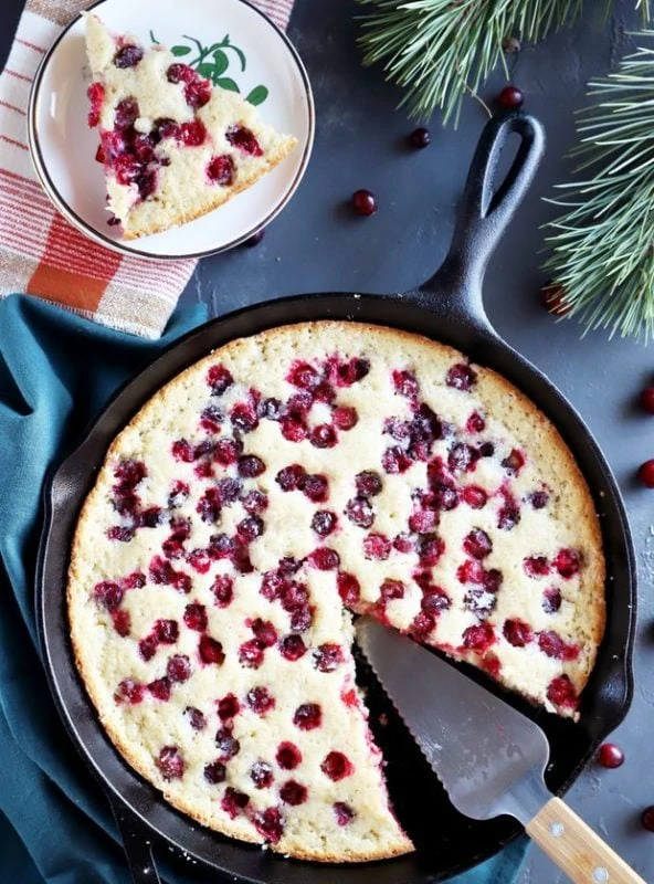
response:
<path fill-rule="evenodd" d="M 293 856 L 411 850 L 355 684 L 368 613 L 577 716 L 604 624 L 598 518 L 503 378 L 347 322 L 235 340 L 118 435 L 76 529 L 78 669 L 177 808 Z"/>

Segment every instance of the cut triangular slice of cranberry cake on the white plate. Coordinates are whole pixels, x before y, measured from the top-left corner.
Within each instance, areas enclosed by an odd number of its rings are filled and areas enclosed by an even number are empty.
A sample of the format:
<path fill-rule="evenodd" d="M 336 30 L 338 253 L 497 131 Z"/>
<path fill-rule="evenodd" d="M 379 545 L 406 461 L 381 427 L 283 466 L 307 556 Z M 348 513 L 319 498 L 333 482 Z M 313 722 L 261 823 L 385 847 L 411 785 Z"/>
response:
<path fill-rule="evenodd" d="M 99 127 L 110 223 L 126 240 L 210 212 L 295 147 L 240 95 L 212 86 L 156 44 L 86 15 L 88 125 Z"/>

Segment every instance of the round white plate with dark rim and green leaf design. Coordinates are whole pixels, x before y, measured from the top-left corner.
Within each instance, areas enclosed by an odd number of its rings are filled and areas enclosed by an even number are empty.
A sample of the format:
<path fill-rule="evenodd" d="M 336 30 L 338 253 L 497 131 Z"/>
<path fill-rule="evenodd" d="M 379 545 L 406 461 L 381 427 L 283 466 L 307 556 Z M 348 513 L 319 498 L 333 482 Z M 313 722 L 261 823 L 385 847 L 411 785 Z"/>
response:
<path fill-rule="evenodd" d="M 253 97 L 267 123 L 295 135 L 299 144 L 272 172 L 213 212 L 123 242 L 120 229 L 107 224 L 103 169 L 94 160 L 98 135 L 86 123 L 89 76 L 84 22 L 77 18 L 45 55 L 28 116 L 36 172 L 62 214 L 109 249 L 151 259 L 222 252 L 265 227 L 299 185 L 314 140 L 310 85 L 285 34 L 245 0 L 99 0 L 89 9 L 109 30 L 133 33 L 146 45 L 154 36 L 193 66 L 202 55 L 204 64 L 215 65 L 204 75 L 213 73 L 219 85 L 229 78 L 231 88 L 235 84 L 242 95 Z"/>

